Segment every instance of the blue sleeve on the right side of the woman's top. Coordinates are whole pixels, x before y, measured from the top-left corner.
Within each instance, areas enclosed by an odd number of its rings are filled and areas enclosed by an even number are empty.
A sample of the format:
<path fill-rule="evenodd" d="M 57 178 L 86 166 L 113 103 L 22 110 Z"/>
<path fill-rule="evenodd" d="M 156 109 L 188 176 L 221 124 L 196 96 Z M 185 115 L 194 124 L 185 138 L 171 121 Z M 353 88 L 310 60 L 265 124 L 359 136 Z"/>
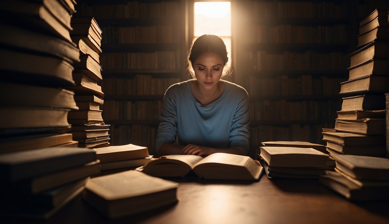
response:
<path fill-rule="evenodd" d="M 241 95 L 234 113 L 230 132 L 231 148 L 238 148 L 244 155 L 249 153 L 250 102 L 246 91 Z"/>

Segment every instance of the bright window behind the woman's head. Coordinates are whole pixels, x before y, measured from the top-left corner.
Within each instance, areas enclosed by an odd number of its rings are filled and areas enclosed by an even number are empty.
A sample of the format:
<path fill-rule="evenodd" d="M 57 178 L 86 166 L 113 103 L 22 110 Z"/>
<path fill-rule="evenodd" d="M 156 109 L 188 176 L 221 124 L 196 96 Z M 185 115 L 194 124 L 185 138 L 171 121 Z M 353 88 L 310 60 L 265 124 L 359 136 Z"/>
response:
<path fill-rule="evenodd" d="M 231 2 L 195 2 L 193 34 L 193 42 L 204 34 L 223 39 L 231 66 Z"/>

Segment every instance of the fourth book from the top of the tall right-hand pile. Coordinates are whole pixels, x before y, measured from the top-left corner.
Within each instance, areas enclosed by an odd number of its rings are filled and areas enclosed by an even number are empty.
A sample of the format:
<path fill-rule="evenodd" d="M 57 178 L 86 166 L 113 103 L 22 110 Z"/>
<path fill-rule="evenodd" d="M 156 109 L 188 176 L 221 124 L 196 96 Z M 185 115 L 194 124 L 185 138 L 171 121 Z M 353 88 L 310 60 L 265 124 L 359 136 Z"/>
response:
<path fill-rule="evenodd" d="M 347 68 L 347 70 L 349 70 L 349 79 L 366 75 L 387 75 L 389 73 L 387 58 L 371 58 Z"/>

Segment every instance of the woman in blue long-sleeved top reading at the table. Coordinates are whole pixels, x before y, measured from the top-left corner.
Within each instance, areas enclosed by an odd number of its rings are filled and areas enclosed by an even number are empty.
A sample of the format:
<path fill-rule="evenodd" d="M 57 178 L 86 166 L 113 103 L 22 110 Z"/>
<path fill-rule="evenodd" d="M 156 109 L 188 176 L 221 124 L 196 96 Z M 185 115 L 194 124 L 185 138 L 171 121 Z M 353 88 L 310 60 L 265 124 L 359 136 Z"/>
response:
<path fill-rule="evenodd" d="M 250 103 L 241 86 L 222 80 L 230 72 L 223 40 L 203 35 L 188 52 L 194 79 L 170 86 L 162 103 L 156 150 L 159 156 L 247 155 Z"/>

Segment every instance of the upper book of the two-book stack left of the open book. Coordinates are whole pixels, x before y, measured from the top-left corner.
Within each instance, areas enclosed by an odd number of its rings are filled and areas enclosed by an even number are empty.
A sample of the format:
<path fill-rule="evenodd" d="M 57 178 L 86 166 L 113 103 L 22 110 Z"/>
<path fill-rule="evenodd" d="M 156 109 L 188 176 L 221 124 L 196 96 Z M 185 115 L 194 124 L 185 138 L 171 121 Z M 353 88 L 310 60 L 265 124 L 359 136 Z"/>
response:
<path fill-rule="evenodd" d="M 102 163 L 114 161 L 140 159 L 149 157 L 148 148 L 139 145 L 116 145 L 107 148 L 96 149 L 96 156 Z"/>

